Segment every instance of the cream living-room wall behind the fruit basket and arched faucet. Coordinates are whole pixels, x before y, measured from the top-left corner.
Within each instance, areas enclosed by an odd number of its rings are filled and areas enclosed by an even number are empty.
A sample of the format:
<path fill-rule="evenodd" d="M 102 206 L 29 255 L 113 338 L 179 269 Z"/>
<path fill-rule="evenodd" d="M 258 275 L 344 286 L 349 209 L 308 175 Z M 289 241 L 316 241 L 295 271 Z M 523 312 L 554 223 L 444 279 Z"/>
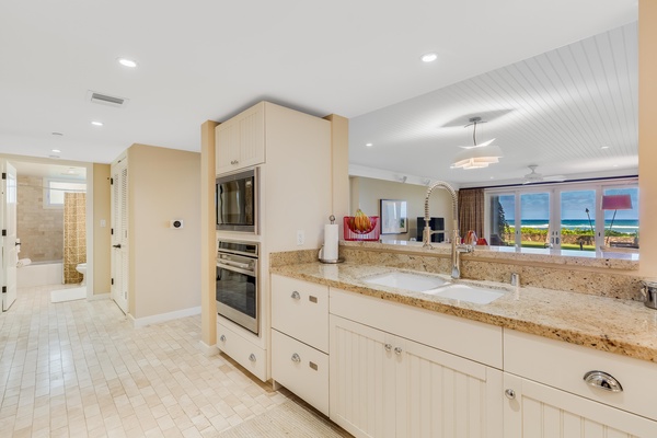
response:
<path fill-rule="evenodd" d="M 366 215 L 380 216 L 381 199 L 405 200 L 408 209 L 408 233 L 383 234 L 381 238 L 383 240 L 408 240 L 417 237 L 417 218 L 424 217 L 426 186 L 361 176 L 351 177 L 350 182 L 351 215 L 356 212 L 356 209 L 360 208 Z M 445 218 L 445 226 L 448 233 L 451 231 L 453 215 L 449 193 L 440 188 L 434 189 L 429 198 L 429 214 L 431 217 Z"/>

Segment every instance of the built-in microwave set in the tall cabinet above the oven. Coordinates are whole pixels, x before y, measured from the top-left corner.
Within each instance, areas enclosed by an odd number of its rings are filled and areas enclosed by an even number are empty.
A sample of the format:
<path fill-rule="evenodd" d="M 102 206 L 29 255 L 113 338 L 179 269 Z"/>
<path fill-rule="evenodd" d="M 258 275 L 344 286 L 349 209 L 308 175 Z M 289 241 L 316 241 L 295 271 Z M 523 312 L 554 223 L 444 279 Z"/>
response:
<path fill-rule="evenodd" d="M 257 168 L 217 177 L 217 230 L 257 234 Z"/>

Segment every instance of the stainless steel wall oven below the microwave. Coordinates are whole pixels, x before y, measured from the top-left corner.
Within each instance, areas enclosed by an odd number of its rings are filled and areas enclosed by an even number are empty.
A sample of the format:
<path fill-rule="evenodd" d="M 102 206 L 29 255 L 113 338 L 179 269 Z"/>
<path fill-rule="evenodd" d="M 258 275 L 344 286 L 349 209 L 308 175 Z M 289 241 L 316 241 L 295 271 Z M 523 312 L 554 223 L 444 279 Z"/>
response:
<path fill-rule="evenodd" d="M 217 249 L 217 313 L 258 334 L 258 244 L 219 241 Z"/>

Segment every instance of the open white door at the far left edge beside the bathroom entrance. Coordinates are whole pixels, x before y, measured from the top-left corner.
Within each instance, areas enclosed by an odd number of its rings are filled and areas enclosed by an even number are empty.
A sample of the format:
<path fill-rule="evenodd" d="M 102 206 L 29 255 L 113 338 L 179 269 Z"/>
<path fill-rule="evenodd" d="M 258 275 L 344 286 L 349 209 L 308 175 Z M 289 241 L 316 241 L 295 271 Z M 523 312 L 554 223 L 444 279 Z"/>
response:
<path fill-rule="evenodd" d="M 2 311 L 7 311 L 16 300 L 16 170 L 2 160 L 2 206 L 0 229 L 2 229 Z"/>

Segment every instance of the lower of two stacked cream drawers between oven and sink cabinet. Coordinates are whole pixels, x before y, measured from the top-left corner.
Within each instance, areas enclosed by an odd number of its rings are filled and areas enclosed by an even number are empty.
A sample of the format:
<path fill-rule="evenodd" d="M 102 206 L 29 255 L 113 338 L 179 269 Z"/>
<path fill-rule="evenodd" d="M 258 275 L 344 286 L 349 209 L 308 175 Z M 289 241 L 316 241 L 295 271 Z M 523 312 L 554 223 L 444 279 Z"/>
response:
<path fill-rule="evenodd" d="M 328 416 L 328 356 L 272 331 L 272 378 Z"/>

